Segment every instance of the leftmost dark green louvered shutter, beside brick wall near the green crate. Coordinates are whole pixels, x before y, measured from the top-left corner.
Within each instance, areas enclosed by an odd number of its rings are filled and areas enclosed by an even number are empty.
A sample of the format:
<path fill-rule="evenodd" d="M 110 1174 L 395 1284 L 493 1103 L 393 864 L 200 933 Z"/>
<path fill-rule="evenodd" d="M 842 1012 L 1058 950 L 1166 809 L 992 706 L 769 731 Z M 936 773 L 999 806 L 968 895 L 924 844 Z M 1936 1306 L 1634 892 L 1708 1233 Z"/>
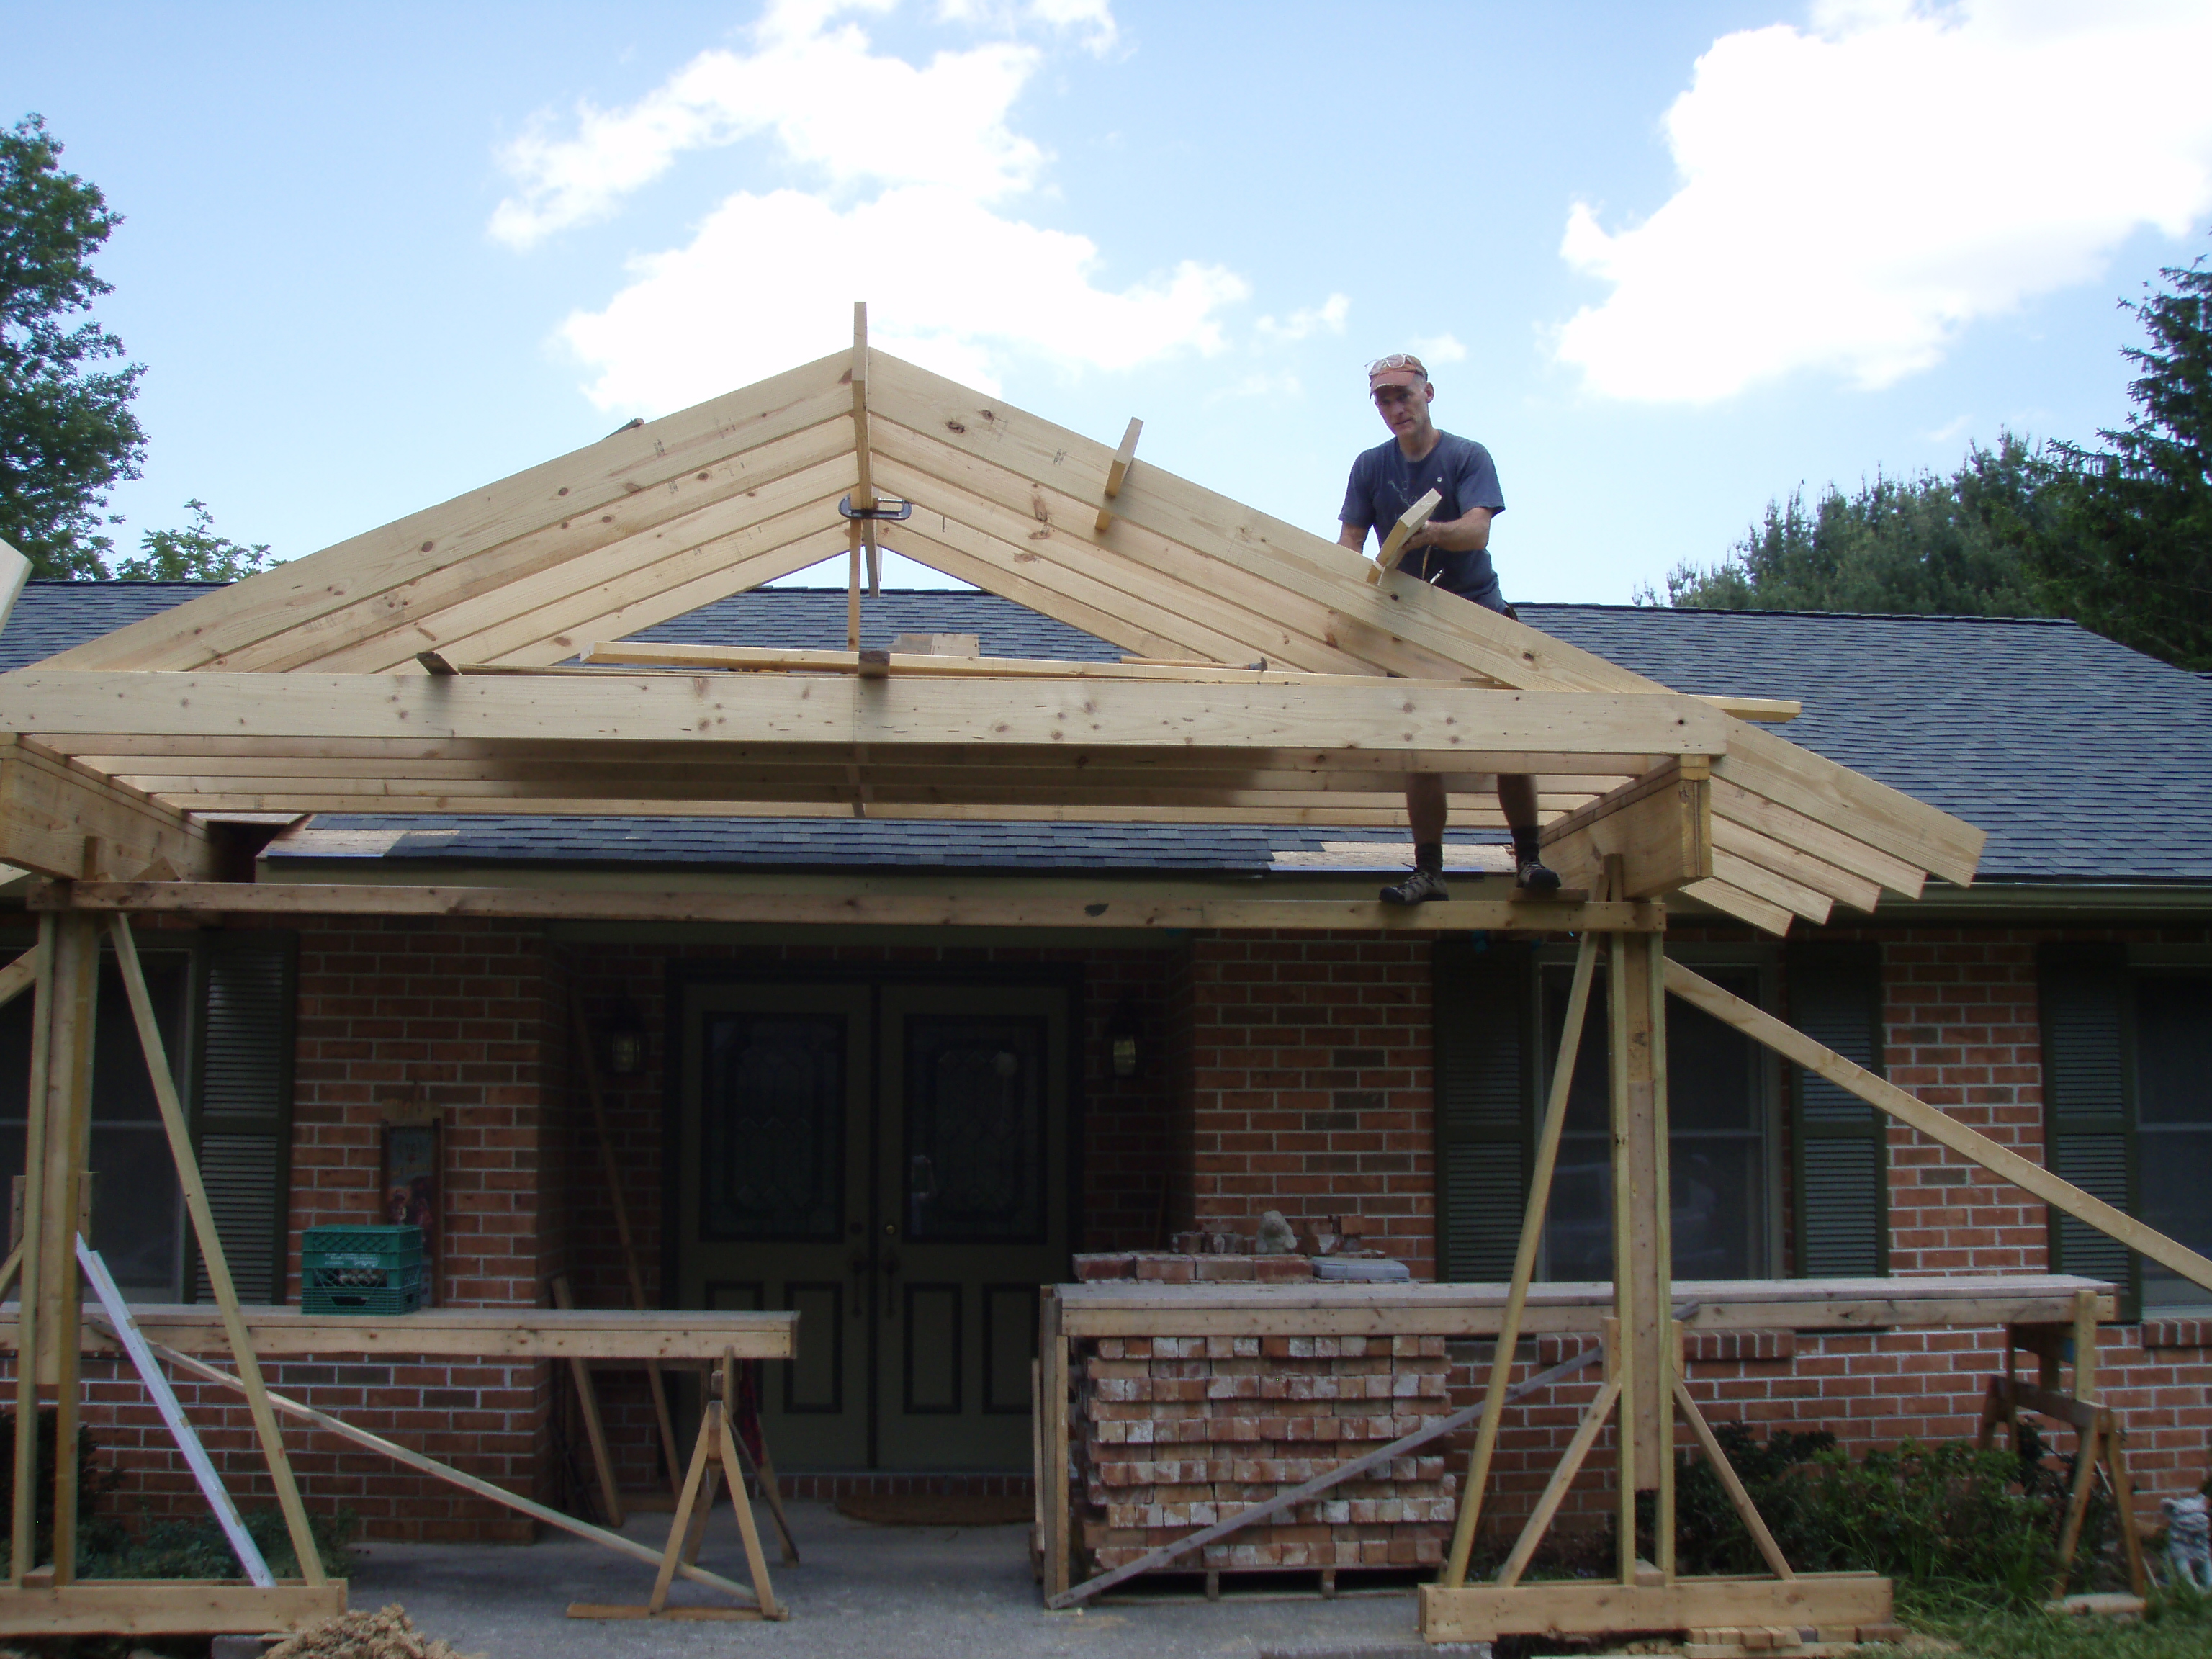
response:
<path fill-rule="evenodd" d="M 283 1301 L 292 1152 L 290 933 L 210 933 L 201 956 L 199 1179 L 239 1301 Z M 210 1301 L 192 1252 L 195 1301 Z"/>

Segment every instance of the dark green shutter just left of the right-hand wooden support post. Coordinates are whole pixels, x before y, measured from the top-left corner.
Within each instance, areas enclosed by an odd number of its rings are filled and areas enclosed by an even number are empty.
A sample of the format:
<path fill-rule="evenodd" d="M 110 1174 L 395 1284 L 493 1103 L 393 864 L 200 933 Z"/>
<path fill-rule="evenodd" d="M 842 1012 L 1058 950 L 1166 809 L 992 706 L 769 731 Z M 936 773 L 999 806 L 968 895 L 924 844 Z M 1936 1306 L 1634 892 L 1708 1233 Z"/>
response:
<path fill-rule="evenodd" d="M 1436 1272 L 1513 1274 L 1528 1192 L 1528 1004 L 1524 945 L 1436 947 Z"/>

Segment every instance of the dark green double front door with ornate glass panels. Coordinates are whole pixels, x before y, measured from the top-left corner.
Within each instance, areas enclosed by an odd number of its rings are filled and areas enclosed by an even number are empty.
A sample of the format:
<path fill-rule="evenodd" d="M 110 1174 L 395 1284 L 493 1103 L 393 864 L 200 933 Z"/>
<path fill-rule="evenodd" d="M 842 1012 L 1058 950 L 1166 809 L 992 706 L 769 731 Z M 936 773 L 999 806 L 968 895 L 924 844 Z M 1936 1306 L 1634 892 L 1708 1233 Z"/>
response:
<path fill-rule="evenodd" d="M 1026 1469 L 1037 1285 L 1066 1274 L 1062 987 L 690 984 L 686 1307 L 799 1312 L 785 1469 Z"/>

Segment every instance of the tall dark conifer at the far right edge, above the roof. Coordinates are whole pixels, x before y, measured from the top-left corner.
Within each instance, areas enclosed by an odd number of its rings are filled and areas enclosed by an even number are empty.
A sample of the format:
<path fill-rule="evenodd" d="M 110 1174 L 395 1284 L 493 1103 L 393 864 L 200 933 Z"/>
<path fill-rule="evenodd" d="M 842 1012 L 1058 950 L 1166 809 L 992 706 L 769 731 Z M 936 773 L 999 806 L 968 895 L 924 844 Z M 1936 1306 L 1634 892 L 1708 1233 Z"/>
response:
<path fill-rule="evenodd" d="M 2051 445 L 2048 513 L 2015 526 L 2051 604 L 2084 626 L 2212 670 L 2212 272 L 2159 272 L 2172 288 L 2121 301 L 2148 345 L 2126 356 L 2135 414 L 2101 449 Z"/>

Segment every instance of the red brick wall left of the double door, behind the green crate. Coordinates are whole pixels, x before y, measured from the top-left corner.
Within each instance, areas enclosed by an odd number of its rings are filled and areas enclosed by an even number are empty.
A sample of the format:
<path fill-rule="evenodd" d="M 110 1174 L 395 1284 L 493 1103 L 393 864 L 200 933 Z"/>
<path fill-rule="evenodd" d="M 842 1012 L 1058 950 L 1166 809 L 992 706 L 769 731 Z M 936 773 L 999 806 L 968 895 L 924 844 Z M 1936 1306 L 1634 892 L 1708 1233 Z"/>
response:
<path fill-rule="evenodd" d="M 566 989 L 540 929 L 524 922 L 349 918 L 301 929 L 294 1057 L 288 1301 L 299 1298 L 301 1230 L 378 1221 L 380 1124 L 392 1102 L 445 1121 L 447 1305 L 535 1307 L 562 1265 L 566 1186 Z M 551 1376 L 544 1365 L 447 1358 L 310 1356 L 263 1367 L 270 1387 L 372 1433 L 544 1500 Z M 168 1431 L 128 1365 L 88 1365 L 86 1416 L 126 1484 L 124 1513 L 201 1515 Z M 241 1504 L 274 1504 L 239 1396 L 179 1383 Z M 310 1509 L 349 1509 L 367 1537 L 524 1540 L 531 1522 L 285 1420 Z"/>

